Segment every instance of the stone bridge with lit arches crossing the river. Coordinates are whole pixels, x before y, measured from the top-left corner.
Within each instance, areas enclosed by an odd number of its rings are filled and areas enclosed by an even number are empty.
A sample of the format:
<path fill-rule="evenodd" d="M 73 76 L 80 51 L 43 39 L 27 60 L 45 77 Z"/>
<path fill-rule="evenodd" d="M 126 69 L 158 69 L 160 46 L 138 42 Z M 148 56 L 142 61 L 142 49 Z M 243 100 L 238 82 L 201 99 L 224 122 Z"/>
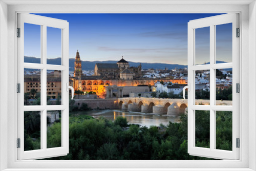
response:
<path fill-rule="evenodd" d="M 196 100 L 196 104 L 209 105 L 209 100 Z M 217 105 L 232 105 L 232 101 L 216 100 Z M 160 115 L 178 116 L 185 113 L 187 99 L 162 99 L 127 97 L 118 99 L 119 109 L 130 112 L 143 112 Z"/>

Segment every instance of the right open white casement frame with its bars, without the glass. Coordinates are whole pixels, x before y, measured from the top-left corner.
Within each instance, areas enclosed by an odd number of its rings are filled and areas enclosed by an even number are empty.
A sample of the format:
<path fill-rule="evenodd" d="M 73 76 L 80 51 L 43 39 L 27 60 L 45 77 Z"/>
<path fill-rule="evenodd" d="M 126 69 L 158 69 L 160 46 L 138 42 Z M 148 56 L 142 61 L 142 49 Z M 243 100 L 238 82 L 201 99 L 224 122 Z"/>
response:
<path fill-rule="evenodd" d="M 232 23 L 232 62 L 216 63 L 216 26 Z M 196 65 L 196 29 L 209 27 L 209 61 L 208 65 Z M 188 23 L 188 153 L 193 156 L 210 156 L 215 159 L 239 159 L 239 148 L 236 138 L 239 138 L 239 94 L 236 83 L 239 83 L 239 39 L 236 29 L 239 28 L 239 14 L 230 13 L 212 17 L 190 20 Z M 216 105 L 216 69 L 232 68 L 233 87 L 232 105 Z M 210 105 L 195 103 L 196 71 L 210 71 Z M 197 147 L 195 142 L 195 115 L 197 110 L 210 112 L 209 148 Z M 232 111 L 232 150 L 216 149 L 216 111 Z"/>

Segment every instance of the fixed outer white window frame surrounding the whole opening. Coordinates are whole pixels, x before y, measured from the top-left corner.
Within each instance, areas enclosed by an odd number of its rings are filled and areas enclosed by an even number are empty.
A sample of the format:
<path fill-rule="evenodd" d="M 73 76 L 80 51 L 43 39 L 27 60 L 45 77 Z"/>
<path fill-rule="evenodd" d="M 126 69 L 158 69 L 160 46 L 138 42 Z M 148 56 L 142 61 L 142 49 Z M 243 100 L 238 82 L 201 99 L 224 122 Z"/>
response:
<path fill-rule="evenodd" d="M 209 3 L 210 2 L 210 3 Z M 5 3 L 27 3 L 27 5 L 9 5 Z M 56 1 L 42 1 L 38 2 L 45 5 L 32 4 L 36 2 L 0 2 L 0 162 L 1 169 L 21 170 L 19 168 L 31 168 L 31 170 L 39 170 L 38 168 L 46 168 L 45 170 L 56 170 L 56 168 L 84 168 L 83 170 L 122 170 L 120 168 L 130 168 L 129 170 L 255 170 L 256 169 L 256 135 L 255 135 L 255 102 L 256 78 L 248 79 L 250 75 L 255 75 L 255 46 L 256 46 L 256 6 L 254 1 L 170 1 L 170 2 L 111 2 L 107 1 L 104 4 L 94 4 L 92 2 L 79 2 L 83 5 L 49 5 L 58 4 Z M 66 2 L 63 2 L 66 3 Z M 69 4 L 75 4 L 69 2 Z M 91 3 L 91 4 L 90 4 Z M 116 4 L 115 4 L 116 3 Z M 126 5 L 124 5 L 126 3 Z M 203 5 L 200 5 L 203 3 Z M 47 5 L 48 4 L 48 5 Z M 205 5 L 206 4 L 206 5 Z M 223 5 L 224 4 L 224 5 Z M 239 12 L 241 21 L 241 36 L 240 39 L 240 160 L 223 160 L 223 161 L 17 161 L 16 158 L 16 112 L 13 108 L 13 99 L 16 99 L 16 13 L 17 12 L 30 13 L 227 13 Z M 248 12 L 249 11 L 249 12 Z M 8 19 L 7 19 L 8 16 Z M 250 34 L 250 36 L 248 36 Z M 8 35 L 8 36 L 7 36 Z M 4 48 L 7 47 L 8 51 Z M 8 58 L 6 58 L 8 56 Z M 250 61 L 250 62 L 248 62 Z M 5 66 L 8 63 L 8 66 Z M 248 69 L 249 68 L 249 69 Z M 6 74 L 6 70 L 8 74 Z M 3 82 L 8 82 L 4 84 Z M 250 93 L 248 89 L 251 88 Z M 6 91 L 8 90 L 8 91 Z M 6 97 L 8 101 L 6 102 Z M 250 99 L 250 101 L 249 101 Z M 249 105 L 250 112 L 249 113 Z M 7 106 L 7 107 L 6 107 Z M 5 115 L 6 114 L 6 115 Z M 7 115 L 8 114 L 8 115 Z M 8 121 L 8 123 L 7 123 Z M 7 131 L 6 131 L 7 130 Z M 6 146 L 8 146 L 6 148 Z M 249 150 L 250 148 L 250 150 Z M 8 156 L 8 157 L 6 157 Z M 51 169 L 52 168 L 52 169 Z M 86 169 L 87 168 L 87 169 Z M 90 169 L 91 168 L 91 169 Z M 98 169 L 92 169 L 98 168 Z M 104 169 L 105 168 L 105 169 Z M 106 169 L 109 168 L 109 169 Z M 112 168 L 112 169 L 111 169 Z M 150 169 L 151 168 L 151 169 Z M 177 169 L 175 169 L 177 168 Z M 183 169 L 182 169 L 183 168 Z M 29 169 L 26 169 L 29 170 Z M 60 169 L 62 170 L 62 169 Z M 123 169 L 127 170 L 127 169 Z"/>

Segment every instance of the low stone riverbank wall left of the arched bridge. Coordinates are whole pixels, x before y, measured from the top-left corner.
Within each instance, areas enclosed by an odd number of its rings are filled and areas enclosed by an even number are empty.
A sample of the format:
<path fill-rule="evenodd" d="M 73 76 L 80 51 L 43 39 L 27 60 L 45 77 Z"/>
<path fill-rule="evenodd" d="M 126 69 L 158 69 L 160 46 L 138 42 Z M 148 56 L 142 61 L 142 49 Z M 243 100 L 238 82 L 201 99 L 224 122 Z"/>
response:
<path fill-rule="evenodd" d="M 82 103 L 87 103 L 91 109 L 118 109 L 118 99 L 75 99 L 79 109 Z"/>

